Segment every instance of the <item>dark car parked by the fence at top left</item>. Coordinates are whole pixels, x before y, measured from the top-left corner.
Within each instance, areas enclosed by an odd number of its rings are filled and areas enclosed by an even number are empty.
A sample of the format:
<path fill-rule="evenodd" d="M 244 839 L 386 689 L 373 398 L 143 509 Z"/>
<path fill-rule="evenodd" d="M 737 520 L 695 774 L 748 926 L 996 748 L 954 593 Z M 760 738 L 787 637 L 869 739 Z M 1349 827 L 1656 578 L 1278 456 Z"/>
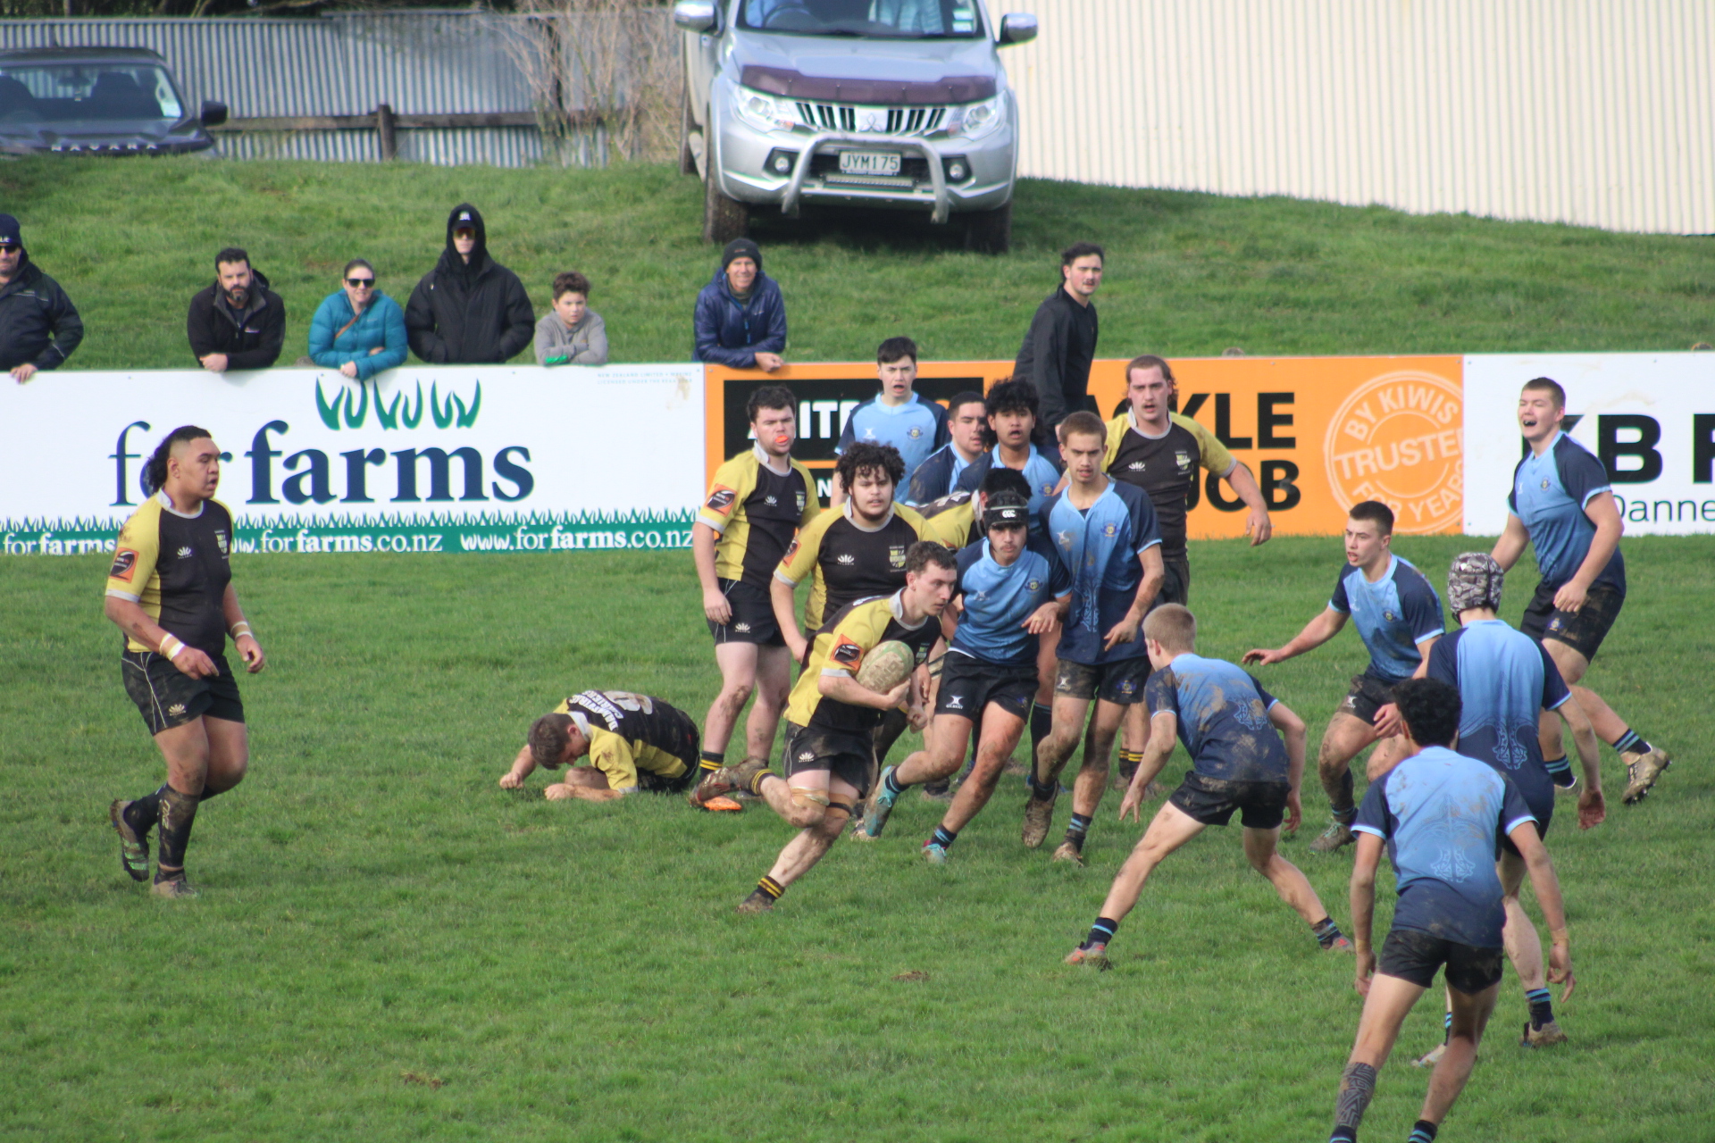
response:
<path fill-rule="evenodd" d="M 0 51 L 0 151 L 177 154 L 214 146 L 225 103 L 192 113 L 147 48 Z"/>

